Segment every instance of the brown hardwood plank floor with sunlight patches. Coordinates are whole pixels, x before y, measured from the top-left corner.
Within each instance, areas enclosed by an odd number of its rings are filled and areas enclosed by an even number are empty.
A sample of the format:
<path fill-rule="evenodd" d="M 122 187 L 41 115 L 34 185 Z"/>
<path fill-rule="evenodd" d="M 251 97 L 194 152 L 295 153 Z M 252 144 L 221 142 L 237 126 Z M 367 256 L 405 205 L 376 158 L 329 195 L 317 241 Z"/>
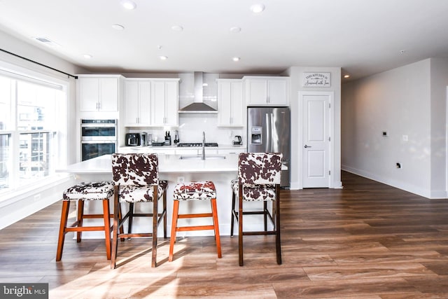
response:
<path fill-rule="evenodd" d="M 120 244 L 111 270 L 104 240 L 66 239 L 55 261 L 61 202 L 0 230 L 0 282 L 48 282 L 50 298 L 448 298 L 448 200 L 427 200 L 346 172 L 344 189 L 282 190 L 274 236 Z M 230 211 L 229 211 L 230 213 Z M 123 263 L 123 256 L 129 258 Z"/>

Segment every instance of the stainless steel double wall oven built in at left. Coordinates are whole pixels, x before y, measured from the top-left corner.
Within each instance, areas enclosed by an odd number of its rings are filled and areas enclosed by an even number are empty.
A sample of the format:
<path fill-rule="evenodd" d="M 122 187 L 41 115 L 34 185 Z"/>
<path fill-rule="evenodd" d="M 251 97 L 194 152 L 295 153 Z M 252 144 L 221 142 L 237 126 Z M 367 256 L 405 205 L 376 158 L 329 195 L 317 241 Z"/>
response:
<path fill-rule="evenodd" d="M 81 120 L 81 159 L 115 153 L 117 120 Z"/>

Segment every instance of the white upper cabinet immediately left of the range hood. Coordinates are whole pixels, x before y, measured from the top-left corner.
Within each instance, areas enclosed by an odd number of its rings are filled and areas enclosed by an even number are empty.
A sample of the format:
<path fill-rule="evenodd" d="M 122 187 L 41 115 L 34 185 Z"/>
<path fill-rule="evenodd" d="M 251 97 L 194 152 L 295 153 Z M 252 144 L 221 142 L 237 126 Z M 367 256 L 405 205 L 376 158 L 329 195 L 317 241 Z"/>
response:
<path fill-rule="evenodd" d="M 179 125 L 179 79 L 151 81 L 151 124 Z"/>

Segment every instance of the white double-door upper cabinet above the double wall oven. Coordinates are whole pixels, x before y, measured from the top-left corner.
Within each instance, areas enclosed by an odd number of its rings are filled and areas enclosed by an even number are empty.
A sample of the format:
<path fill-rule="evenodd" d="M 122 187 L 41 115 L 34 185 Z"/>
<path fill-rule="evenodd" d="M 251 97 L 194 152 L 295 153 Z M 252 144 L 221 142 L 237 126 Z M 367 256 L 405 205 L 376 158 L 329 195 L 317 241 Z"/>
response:
<path fill-rule="evenodd" d="M 118 111 L 118 75 L 78 75 L 79 111 Z"/>

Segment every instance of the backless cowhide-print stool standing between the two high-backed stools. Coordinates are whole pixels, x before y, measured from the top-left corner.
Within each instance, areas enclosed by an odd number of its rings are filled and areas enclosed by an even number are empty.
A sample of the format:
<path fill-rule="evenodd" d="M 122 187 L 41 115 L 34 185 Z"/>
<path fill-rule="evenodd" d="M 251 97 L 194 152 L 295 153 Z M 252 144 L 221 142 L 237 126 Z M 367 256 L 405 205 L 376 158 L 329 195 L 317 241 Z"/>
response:
<path fill-rule="evenodd" d="M 218 209 L 216 209 L 216 188 L 212 181 L 195 181 L 188 183 L 178 183 L 174 188 L 173 223 L 171 227 L 171 239 L 169 240 L 169 258 L 173 261 L 174 242 L 176 242 L 176 232 L 190 230 L 214 230 L 216 249 L 218 258 L 221 258 L 221 241 L 219 238 Z M 181 200 L 211 200 L 211 213 L 201 214 L 179 214 L 179 202 Z M 179 218 L 201 218 L 212 217 L 213 225 L 193 225 L 177 226 Z"/>

